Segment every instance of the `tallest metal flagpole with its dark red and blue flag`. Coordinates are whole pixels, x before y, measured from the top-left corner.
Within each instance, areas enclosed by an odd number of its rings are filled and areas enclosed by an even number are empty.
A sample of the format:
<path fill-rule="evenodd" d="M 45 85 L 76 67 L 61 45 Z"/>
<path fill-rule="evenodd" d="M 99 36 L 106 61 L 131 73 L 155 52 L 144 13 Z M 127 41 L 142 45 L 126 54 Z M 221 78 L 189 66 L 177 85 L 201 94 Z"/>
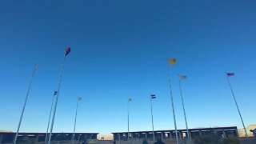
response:
<path fill-rule="evenodd" d="M 50 135 L 49 135 L 49 139 L 48 139 L 48 144 L 50 144 L 51 134 L 52 134 L 53 128 L 54 128 L 54 118 L 55 118 L 55 113 L 56 113 L 57 104 L 58 104 L 58 94 L 59 94 L 59 90 L 60 90 L 61 83 L 62 83 L 62 73 L 63 73 L 63 68 L 64 68 L 64 62 L 65 62 L 66 55 L 69 54 L 69 53 L 70 53 L 70 47 L 68 47 L 65 50 L 64 58 L 63 58 L 63 61 L 62 61 L 61 76 L 60 76 L 59 82 L 58 82 L 58 91 L 57 91 L 56 101 L 55 101 L 55 104 L 54 104 L 54 114 L 53 114 L 53 118 L 52 118 L 52 122 L 51 122 L 51 126 L 50 126 Z"/>

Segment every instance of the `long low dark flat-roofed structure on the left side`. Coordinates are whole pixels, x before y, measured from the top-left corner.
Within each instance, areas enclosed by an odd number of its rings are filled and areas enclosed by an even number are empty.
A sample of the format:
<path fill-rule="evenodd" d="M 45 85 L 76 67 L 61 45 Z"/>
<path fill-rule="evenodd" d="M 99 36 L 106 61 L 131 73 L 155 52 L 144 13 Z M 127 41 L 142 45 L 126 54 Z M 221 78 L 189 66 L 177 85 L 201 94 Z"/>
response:
<path fill-rule="evenodd" d="M 12 143 L 15 137 L 14 132 L 0 131 L 0 143 Z M 85 140 L 85 139 L 97 139 L 98 133 L 75 133 L 75 140 Z M 73 133 L 53 133 L 52 141 L 70 141 L 72 139 Z M 18 141 L 22 142 L 25 138 L 36 139 L 38 142 L 44 142 L 46 138 L 46 133 L 18 133 Z"/>

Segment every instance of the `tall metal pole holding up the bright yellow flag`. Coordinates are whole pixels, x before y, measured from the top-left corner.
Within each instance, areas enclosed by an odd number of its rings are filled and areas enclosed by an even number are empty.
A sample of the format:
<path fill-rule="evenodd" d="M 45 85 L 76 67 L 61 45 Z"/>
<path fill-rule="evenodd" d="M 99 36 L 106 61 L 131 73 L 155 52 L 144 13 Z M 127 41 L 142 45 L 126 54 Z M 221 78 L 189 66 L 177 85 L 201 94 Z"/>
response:
<path fill-rule="evenodd" d="M 168 62 L 168 59 L 167 59 Z M 173 93 L 171 90 L 171 84 L 170 84 L 170 66 L 167 63 L 167 75 L 168 75 L 168 82 L 169 82 L 169 89 L 170 89 L 170 101 L 171 101 L 171 106 L 173 110 L 173 116 L 174 116 L 174 126 L 175 126 L 175 134 L 176 134 L 176 143 L 178 144 L 178 131 L 177 131 L 177 125 L 176 125 L 176 118 L 175 118 L 175 110 L 174 110 L 174 98 L 173 98 Z"/>

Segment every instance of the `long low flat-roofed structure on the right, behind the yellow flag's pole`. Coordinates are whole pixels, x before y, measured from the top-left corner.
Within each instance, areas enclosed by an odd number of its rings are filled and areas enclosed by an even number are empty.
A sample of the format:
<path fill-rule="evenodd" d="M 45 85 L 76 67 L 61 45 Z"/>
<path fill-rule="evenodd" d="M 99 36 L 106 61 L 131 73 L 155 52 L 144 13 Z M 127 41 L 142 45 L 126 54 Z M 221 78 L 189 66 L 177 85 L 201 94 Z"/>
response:
<path fill-rule="evenodd" d="M 191 138 L 202 136 L 204 134 L 210 133 L 211 130 L 214 130 L 215 133 L 221 135 L 223 138 L 234 138 L 238 137 L 238 128 L 237 126 L 229 126 L 229 127 L 213 127 L 213 128 L 198 128 L 198 129 L 189 129 L 189 134 Z M 127 132 L 116 132 L 112 133 L 113 139 L 115 141 L 123 141 L 127 140 L 128 133 Z M 135 131 L 129 133 L 130 139 L 142 139 L 146 138 L 148 140 L 153 139 L 152 131 Z M 175 130 L 154 130 L 155 136 L 160 136 L 164 139 L 173 139 L 176 138 Z M 178 138 L 184 139 L 186 138 L 186 129 L 178 130 Z"/>

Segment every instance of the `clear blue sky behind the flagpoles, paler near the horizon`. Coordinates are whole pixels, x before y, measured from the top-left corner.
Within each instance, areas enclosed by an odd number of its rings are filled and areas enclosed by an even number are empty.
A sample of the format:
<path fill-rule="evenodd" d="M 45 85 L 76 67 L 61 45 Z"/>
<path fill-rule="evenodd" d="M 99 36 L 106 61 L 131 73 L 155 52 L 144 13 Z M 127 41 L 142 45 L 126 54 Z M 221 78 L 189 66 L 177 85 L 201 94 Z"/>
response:
<path fill-rule="evenodd" d="M 0 2 L 0 130 L 16 131 L 35 62 L 20 131 L 45 132 L 62 57 L 66 58 L 54 132 L 174 129 L 166 58 L 178 129 L 186 128 L 178 88 L 182 82 L 189 128 L 255 123 L 256 2 L 254 0 L 85 0 Z"/>

